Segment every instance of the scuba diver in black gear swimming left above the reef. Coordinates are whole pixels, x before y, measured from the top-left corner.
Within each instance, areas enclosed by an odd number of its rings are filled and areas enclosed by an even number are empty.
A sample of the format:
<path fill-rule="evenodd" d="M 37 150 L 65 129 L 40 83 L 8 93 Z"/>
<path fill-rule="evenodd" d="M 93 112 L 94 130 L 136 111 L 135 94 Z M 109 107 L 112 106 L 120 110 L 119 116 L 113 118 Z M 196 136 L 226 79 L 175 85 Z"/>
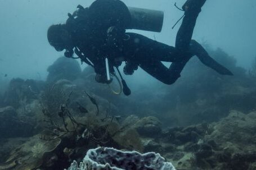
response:
<path fill-rule="evenodd" d="M 110 75 L 115 75 L 114 67 L 118 70 L 121 63 L 125 62 L 125 75 L 132 75 L 141 67 L 155 79 L 170 85 L 181 76 L 181 71 L 192 56 L 197 56 L 205 66 L 221 75 L 233 75 L 211 58 L 199 43 L 191 40 L 197 16 L 205 1 L 187 0 L 183 4 L 180 10 L 185 14 L 176 36 L 175 47 L 140 34 L 126 33 L 126 29 L 160 32 L 163 16 L 159 11 L 127 7 L 119 0 L 96 0 L 87 8 L 79 5 L 73 15 L 68 14 L 65 24 L 49 27 L 48 42 L 57 51 L 65 49 L 66 57 L 80 58 L 82 62 L 94 67 L 95 80 L 106 84 L 112 80 Z M 140 12 L 151 15 L 152 21 L 144 21 L 145 17 L 136 16 Z M 157 15 L 160 19 L 155 19 Z M 73 57 L 74 52 L 78 57 Z M 166 67 L 162 62 L 172 63 L 170 67 Z M 124 94 L 131 94 L 119 70 L 118 72 Z"/>

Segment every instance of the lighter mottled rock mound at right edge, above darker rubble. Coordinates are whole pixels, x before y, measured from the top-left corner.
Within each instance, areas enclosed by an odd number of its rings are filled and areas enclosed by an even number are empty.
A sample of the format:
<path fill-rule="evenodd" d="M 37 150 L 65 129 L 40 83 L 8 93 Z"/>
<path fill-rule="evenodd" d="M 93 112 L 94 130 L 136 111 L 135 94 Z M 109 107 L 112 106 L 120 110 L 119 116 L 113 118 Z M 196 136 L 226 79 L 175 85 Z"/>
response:
<path fill-rule="evenodd" d="M 243 144 L 243 150 L 250 150 L 256 144 L 256 112 L 244 114 L 231 111 L 228 117 L 214 123 L 209 139 L 221 144 L 222 148 Z M 227 143 L 229 141 L 229 143 Z M 240 148 L 240 147 L 236 147 Z"/>

